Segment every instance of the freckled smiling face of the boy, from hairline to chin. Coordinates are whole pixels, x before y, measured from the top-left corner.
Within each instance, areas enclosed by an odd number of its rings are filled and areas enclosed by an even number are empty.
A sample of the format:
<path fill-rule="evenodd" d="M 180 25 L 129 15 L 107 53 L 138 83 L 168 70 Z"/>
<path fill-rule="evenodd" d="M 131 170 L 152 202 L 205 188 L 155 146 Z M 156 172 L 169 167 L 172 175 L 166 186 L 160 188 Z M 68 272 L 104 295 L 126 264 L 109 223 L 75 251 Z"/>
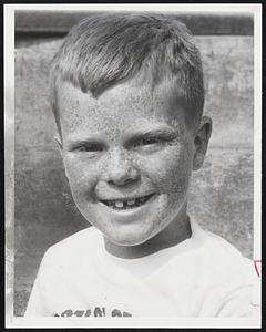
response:
<path fill-rule="evenodd" d="M 59 89 L 62 155 L 81 214 L 119 246 L 144 243 L 184 212 L 193 135 L 173 93 L 132 82 L 99 98 Z"/>

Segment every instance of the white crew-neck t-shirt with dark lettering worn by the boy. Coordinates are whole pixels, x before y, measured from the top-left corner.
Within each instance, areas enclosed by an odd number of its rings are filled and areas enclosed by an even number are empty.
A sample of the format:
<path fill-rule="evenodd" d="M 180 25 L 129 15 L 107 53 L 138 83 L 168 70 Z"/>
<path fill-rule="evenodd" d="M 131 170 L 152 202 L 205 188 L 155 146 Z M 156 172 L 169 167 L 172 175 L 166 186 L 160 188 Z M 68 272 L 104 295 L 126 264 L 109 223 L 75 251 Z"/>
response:
<path fill-rule="evenodd" d="M 144 258 L 104 249 L 90 227 L 45 252 L 27 317 L 252 317 L 253 262 L 192 222 L 192 237 Z"/>

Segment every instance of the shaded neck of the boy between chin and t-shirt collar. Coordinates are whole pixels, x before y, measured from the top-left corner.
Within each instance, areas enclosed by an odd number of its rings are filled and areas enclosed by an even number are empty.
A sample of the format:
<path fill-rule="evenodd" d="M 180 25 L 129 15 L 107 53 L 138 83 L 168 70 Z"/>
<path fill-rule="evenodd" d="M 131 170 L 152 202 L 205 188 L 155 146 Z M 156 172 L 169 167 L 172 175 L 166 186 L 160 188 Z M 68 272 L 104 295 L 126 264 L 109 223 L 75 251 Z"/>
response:
<path fill-rule="evenodd" d="M 185 212 L 183 216 L 177 216 L 164 230 L 144 243 L 136 246 L 119 246 L 104 238 L 104 245 L 106 251 L 113 256 L 134 259 L 176 246 L 188 239 L 191 235 L 190 217 Z"/>

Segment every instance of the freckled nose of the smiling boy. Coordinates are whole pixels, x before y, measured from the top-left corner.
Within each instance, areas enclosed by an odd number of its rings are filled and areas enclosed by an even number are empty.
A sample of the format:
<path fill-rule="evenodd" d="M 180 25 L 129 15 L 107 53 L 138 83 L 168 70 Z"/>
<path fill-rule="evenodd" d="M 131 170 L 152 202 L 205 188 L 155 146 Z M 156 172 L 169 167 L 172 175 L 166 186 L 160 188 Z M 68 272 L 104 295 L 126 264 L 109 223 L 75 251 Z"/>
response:
<path fill-rule="evenodd" d="M 124 186 L 139 179 L 139 172 L 134 167 L 132 158 L 120 151 L 109 154 L 104 173 L 105 181 L 116 186 Z"/>

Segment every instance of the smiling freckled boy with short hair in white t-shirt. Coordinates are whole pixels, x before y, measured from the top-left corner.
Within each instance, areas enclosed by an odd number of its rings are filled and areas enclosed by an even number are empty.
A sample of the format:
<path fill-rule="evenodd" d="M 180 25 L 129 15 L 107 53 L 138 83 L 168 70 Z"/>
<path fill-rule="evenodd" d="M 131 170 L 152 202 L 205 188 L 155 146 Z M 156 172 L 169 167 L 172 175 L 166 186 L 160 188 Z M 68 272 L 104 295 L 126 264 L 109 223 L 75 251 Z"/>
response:
<path fill-rule="evenodd" d="M 51 91 L 72 196 L 94 227 L 47 251 L 25 314 L 250 315 L 250 261 L 186 211 L 212 132 L 187 29 L 85 19 L 53 60 Z"/>

